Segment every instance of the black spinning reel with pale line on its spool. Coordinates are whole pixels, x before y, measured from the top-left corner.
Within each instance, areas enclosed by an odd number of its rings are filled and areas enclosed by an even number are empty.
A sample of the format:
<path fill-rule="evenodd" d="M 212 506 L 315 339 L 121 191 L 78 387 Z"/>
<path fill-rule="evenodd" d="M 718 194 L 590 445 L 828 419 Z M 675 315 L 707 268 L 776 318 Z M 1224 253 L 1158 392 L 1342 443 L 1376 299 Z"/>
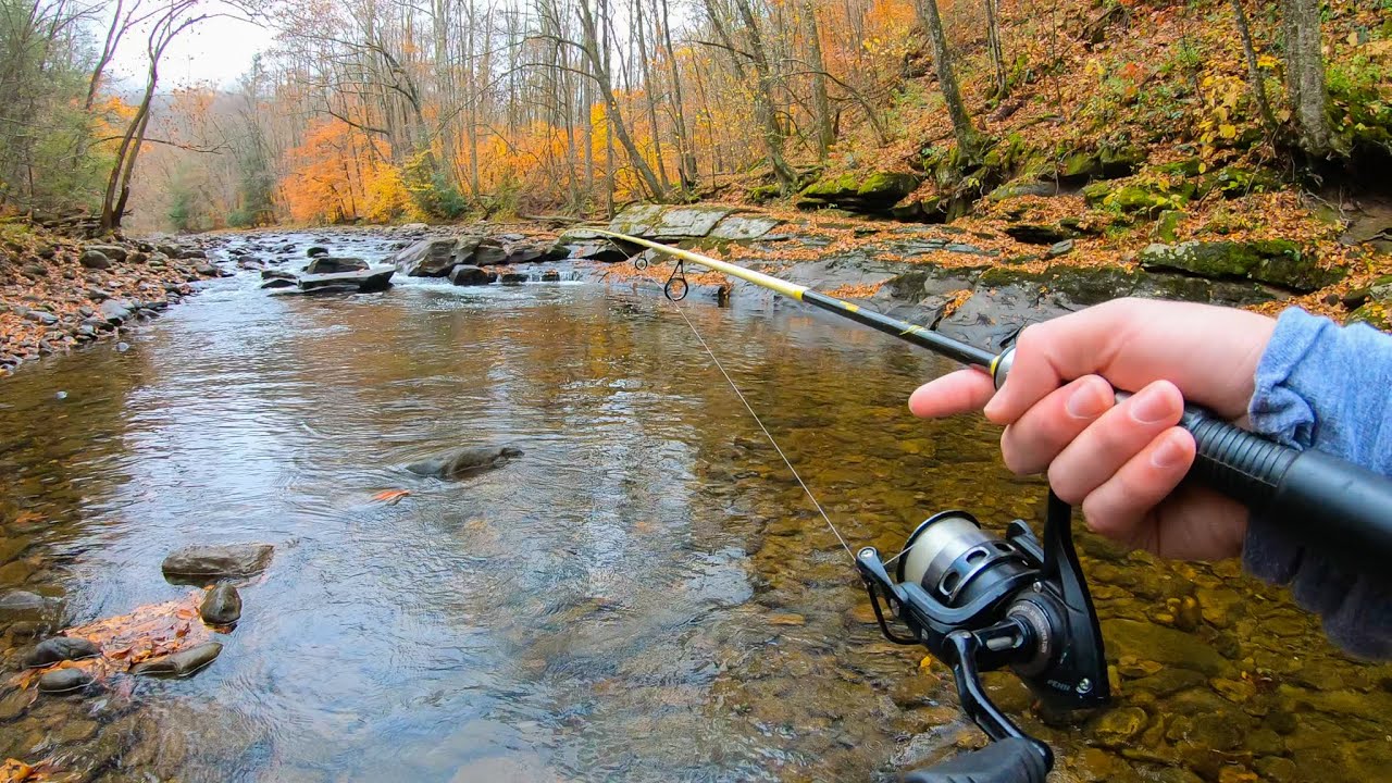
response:
<path fill-rule="evenodd" d="M 913 531 L 894 578 L 876 548 L 856 555 L 880 631 L 952 666 L 962 709 L 992 740 L 910 772 L 908 783 L 1044 783 L 1052 751 L 991 704 L 981 672 L 1009 666 L 1052 709 L 1107 704 L 1102 635 L 1073 550 L 1072 515 L 1050 492 L 1043 539 L 1020 520 L 1002 539 L 966 511 L 944 511 Z M 881 598 L 910 635 L 889 628 Z"/>

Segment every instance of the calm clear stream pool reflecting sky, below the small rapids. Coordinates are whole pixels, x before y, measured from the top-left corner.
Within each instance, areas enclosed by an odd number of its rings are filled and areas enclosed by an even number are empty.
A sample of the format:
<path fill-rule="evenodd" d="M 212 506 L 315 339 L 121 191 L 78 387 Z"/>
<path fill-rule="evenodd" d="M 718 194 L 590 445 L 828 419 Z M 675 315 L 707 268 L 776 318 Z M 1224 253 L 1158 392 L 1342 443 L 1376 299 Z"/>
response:
<path fill-rule="evenodd" d="M 0 595 L 53 599 L 0 614 L 7 672 L 46 623 L 180 595 L 171 549 L 276 545 L 212 667 L 33 705 L 3 685 L 0 752 L 102 780 L 869 780 L 980 740 L 949 677 L 880 639 L 672 305 L 255 286 L 0 386 Z M 895 552 L 947 507 L 1041 509 L 979 419 L 908 415 L 937 359 L 800 309 L 683 307 L 853 546 Z M 402 470 L 484 443 L 525 456 L 459 483 Z M 1045 720 L 990 680 L 1055 744 L 1057 779 L 1388 763 L 1392 672 L 1342 659 L 1279 591 L 1083 549 L 1121 709 Z"/>

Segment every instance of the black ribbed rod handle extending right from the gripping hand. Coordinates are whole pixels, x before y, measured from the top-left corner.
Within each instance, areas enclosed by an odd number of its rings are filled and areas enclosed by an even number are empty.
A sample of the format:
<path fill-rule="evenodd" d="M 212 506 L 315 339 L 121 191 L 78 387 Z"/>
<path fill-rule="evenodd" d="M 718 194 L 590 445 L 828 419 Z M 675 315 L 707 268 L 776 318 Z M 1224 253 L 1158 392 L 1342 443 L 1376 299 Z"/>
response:
<path fill-rule="evenodd" d="M 991 362 L 997 389 L 1013 359 L 1009 348 Z M 1116 400 L 1129 396 L 1118 392 Z M 1324 451 L 1282 446 L 1199 405 L 1185 405 L 1179 426 L 1197 446 L 1190 478 L 1361 571 L 1381 573 L 1392 560 L 1392 478 Z"/>

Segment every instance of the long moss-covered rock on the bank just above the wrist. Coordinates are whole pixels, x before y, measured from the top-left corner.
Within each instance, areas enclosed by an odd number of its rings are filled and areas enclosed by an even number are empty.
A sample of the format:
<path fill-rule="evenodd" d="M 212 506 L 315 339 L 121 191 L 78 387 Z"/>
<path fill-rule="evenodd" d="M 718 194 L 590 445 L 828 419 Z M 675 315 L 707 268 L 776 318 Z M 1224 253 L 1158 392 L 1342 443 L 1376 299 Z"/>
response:
<path fill-rule="evenodd" d="M 1147 272 L 1251 280 L 1302 294 L 1334 284 L 1345 274 L 1342 269 L 1321 269 L 1313 255 L 1288 240 L 1153 244 L 1140 251 L 1137 261 Z"/>

